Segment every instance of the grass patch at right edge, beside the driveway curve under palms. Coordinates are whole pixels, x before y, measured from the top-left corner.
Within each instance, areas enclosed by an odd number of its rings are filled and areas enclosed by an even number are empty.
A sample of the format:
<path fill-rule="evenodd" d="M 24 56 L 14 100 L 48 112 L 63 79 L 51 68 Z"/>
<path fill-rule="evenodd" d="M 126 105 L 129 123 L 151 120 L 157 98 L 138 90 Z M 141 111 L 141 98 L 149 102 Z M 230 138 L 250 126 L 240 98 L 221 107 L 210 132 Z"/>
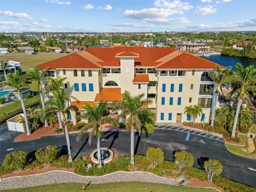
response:
<path fill-rule="evenodd" d="M 254 151 L 253 153 L 246 153 L 245 151 L 242 150 L 242 149 L 247 149 L 247 147 L 248 147 L 248 145 L 247 145 L 247 136 L 246 135 L 240 135 L 240 137 L 244 140 L 245 146 L 243 146 L 243 147 L 234 146 L 234 145 L 229 145 L 229 144 L 225 143 L 226 148 L 228 149 L 228 151 L 230 153 L 233 153 L 235 155 L 239 155 L 239 156 L 242 156 L 242 157 L 256 158 L 256 151 Z M 256 138 L 254 138 L 254 143 L 256 143 Z"/>

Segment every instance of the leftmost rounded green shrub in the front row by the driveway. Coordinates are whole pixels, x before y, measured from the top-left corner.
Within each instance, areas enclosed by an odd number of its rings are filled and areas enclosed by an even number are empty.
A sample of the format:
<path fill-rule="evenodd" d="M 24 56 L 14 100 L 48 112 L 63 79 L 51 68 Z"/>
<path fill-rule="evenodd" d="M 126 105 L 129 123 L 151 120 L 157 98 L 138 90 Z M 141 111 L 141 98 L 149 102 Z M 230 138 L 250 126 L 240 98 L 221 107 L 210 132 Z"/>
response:
<path fill-rule="evenodd" d="M 4 166 L 11 170 L 22 170 L 27 163 L 27 157 L 25 151 L 13 151 L 5 156 Z"/>

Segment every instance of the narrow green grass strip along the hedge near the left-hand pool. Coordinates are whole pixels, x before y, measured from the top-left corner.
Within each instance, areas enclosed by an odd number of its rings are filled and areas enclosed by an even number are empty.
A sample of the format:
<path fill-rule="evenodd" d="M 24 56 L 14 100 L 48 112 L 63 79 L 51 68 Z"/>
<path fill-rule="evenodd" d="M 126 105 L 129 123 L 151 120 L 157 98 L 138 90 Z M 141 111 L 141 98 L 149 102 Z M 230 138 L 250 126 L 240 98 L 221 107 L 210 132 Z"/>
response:
<path fill-rule="evenodd" d="M 40 95 L 37 94 L 35 97 L 33 98 L 29 98 L 29 99 L 25 99 L 25 105 L 28 106 L 36 101 L 40 100 Z M 13 111 L 17 110 L 17 109 L 21 109 L 21 103 L 19 100 L 15 100 L 7 105 L 5 105 L 4 107 L 0 108 L 0 118 L 3 117 L 4 115 L 10 114 Z"/>

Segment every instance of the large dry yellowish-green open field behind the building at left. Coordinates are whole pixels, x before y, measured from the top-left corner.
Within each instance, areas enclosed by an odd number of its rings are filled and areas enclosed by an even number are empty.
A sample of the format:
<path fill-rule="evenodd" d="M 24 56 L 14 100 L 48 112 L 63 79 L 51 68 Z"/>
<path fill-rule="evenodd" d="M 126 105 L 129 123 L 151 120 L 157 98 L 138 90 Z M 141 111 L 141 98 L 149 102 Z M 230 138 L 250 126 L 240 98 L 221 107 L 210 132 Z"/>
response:
<path fill-rule="evenodd" d="M 27 71 L 29 68 L 33 68 L 34 65 L 39 65 L 53 59 L 57 59 L 67 55 L 66 53 L 56 54 L 37 54 L 37 55 L 3 55 L 0 56 L 0 60 L 4 61 L 18 61 L 20 62 L 22 71 Z"/>

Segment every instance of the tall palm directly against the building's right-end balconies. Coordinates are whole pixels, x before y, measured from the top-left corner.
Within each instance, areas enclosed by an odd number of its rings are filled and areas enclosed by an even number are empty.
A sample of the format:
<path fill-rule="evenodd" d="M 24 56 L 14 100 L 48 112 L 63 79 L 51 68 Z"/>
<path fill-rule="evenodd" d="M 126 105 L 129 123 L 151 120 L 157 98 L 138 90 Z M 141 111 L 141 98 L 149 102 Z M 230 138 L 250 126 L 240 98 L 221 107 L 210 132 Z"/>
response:
<path fill-rule="evenodd" d="M 219 97 L 219 91 L 222 92 L 222 83 L 224 83 L 225 79 L 231 73 L 231 67 L 227 67 L 226 69 L 221 69 L 219 66 L 216 66 L 214 72 L 210 72 L 209 76 L 212 78 L 213 82 L 216 84 L 216 89 L 214 92 L 214 100 L 213 100 L 213 107 L 212 107 L 212 114 L 211 114 L 211 127 L 214 126 L 214 118 L 215 118 L 215 111 L 216 111 L 216 103 Z M 223 93 L 223 92 L 222 92 Z"/>

